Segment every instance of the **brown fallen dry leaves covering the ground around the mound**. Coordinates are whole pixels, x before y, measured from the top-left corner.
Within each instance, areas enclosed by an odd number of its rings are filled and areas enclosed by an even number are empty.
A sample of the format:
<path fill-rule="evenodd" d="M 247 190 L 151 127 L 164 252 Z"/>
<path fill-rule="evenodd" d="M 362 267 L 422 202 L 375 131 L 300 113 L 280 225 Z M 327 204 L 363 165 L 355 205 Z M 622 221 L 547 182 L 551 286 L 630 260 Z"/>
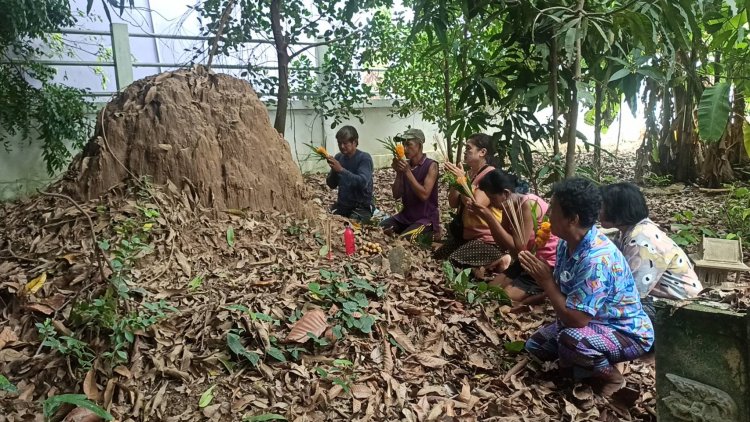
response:
<path fill-rule="evenodd" d="M 383 192 L 392 176 L 379 175 L 378 206 L 394 212 Z M 321 176 L 308 183 L 321 193 L 319 204 L 329 203 Z M 189 190 L 173 186 L 149 192 L 123 187 L 81 204 L 97 239 L 113 243 L 113 227 L 143 208 L 160 211 L 150 227 L 152 251 L 136 260 L 131 287 L 139 290 L 131 305 L 163 300 L 177 311 L 137 330 L 129 361 L 119 365 L 101 355 L 109 333 L 79 329 L 71 315 L 107 286 L 85 216 L 47 196 L 0 208 L 6 235 L 0 242 L 0 374 L 18 389 L 0 391 L 0 421 L 41 420 L 41 402 L 63 393 L 86 394 L 121 421 L 270 414 L 290 421 L 655 420 L 650 366 L 634 362 L 626 370 L 642 392 L 630 410 L 557 379 L 554 366 L 504 347 L 528 338 L 550 320 L 550 310 L 515 315 L 497 303 L 457 301 L 429 251 L 399 246 L 365 227 L 358 241 L 382 245 L 383 255 L 347 258 L 343 227 L 334 221 L 335 259 L 328 261 L 320 254 L 325 230 L 319 220 L 203 210 Z M 406 250 L 404 275 L 392 272 L 387 259 L 397 247 Z M 310 283 L 330 285 L 331 272 L 382 288 L 351 314 L 374 318 L 366 334 L 331 335 L 339 309 L 309 290 Z M 46 280 L 30 290 L 42 274 Z M 40 346 L 35 324 L 47 318 L 60 335 L 85 333 L 80 340 L 98 352 L 92 369 Z M 312 340 L 308 331 L 328 340 Z M 230 338 L 239 339 L 238 350 L 260 357 L 257 366 L 230 350 Z M 279 351 L 283 362 L 274 357 Z"/>

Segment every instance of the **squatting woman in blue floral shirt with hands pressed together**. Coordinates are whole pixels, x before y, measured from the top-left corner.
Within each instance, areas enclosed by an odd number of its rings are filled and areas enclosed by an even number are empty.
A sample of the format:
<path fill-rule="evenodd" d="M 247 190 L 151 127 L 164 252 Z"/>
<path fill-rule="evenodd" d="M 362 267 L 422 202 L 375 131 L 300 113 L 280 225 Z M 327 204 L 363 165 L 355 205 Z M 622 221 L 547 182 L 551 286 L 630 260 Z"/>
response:
<path fill-rule="evenodd" d="M 550 207 L 552 233 L 560 238 L 554 272 L 529 252 L 519 260 L 557 316 L 531 336 L 526 350 L 541 360 L 559 359 L 561 369 L 590 378 L 600 394 L 611 396 L 625 385 L 614 365 L 644 355 L 654 329 L 627 261 L 594 227 L 600 205 L 599 189 L 586 179 L 556 184 Z"/>

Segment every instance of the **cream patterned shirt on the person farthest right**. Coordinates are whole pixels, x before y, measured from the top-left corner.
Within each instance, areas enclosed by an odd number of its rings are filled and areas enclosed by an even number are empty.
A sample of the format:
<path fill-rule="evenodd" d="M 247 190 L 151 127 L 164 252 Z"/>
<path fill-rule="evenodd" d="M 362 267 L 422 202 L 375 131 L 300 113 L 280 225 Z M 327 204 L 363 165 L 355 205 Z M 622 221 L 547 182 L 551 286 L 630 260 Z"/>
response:
<path fill-rule="evenodd" d="M 622 233 L 617 244 L 630 264 L 641 297 L 650 294 L 682 300 L 703 290 L 685 252 L 650 219 Z"/>

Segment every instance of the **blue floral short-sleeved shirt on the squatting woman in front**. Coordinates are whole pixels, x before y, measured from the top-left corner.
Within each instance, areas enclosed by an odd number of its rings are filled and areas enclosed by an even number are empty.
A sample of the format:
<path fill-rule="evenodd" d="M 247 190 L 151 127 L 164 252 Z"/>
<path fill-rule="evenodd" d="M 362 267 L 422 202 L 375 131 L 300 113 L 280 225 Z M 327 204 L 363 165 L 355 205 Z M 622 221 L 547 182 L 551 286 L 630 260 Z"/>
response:
<path fill-rule="evenodd" d="M 592 227 L 572 254 L 568 244 L 557 244 L 555 281 L 565 295 L 566 306 L 637 341 L 648 350 L 654 328 L 643 311 L 627 261 L 607 236 Z"/>

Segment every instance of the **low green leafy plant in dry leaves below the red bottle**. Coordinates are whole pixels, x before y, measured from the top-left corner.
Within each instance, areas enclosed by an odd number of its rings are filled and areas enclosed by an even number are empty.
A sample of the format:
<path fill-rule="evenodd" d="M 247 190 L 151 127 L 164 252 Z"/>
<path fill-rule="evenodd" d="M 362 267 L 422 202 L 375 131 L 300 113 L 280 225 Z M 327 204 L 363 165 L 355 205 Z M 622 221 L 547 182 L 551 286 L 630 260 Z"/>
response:
<path fill-rule="evenodd" d="M 307 289 L 313 299 L 325 302 L 329 307 L 333 304 L 338 307 L 339 310 L 333 317 L 340 320 L 341 324 L 333 327 L 333 335 L 341 338 L 352 329 L 363 334 L 371 333 L 375 317 L 366 312 L 370 306 L 367 295 L 381 298 L 385 296 L 385 286 L 374 286 L 356 275 L 352 276 L 351 281 L 342 281 L 341 274 L 327 270 L 320 270 L 320 275 L 329 283 L 309 283 Z"/>

